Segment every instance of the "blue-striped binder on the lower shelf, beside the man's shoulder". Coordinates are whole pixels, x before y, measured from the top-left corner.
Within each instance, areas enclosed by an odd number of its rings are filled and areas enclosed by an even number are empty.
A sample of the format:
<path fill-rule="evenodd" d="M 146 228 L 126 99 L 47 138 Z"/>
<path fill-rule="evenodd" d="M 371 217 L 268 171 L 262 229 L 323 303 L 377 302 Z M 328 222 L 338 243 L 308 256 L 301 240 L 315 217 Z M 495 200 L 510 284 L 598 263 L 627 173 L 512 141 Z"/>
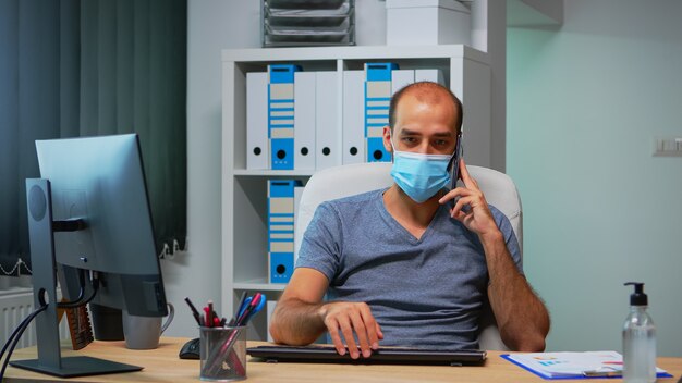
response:
<path fill-rule="evenodd" d="M 294 270 L 296 180 L 268 180 L 268 282 L 287 283 Z"/>

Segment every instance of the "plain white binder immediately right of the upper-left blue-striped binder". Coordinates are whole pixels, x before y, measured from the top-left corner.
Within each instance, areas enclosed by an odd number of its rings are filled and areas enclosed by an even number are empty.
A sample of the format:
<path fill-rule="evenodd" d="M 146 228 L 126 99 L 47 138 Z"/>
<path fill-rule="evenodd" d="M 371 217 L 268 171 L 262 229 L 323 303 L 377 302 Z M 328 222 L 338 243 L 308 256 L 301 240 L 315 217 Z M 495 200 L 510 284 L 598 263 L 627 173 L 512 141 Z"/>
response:
<path fill-rule="evenodd" d="M 316 72 L 294 74 L 294 169 L 315 169 Z"/>

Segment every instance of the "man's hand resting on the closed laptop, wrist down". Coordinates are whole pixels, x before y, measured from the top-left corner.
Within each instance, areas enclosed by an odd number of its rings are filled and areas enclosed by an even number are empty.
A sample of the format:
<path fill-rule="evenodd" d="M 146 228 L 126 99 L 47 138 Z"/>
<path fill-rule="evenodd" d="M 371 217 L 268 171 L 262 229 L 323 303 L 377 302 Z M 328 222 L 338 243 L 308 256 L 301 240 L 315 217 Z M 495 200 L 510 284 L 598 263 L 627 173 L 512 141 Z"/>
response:
<path fill-rule="evenodd" d="M 379 323 L 374 319 L 369 306 L 365 302 L 334 301 L 325 304 L 319 309 L 319 316 L 327 326 L 331 341 L 340 355 L 345 355 L 345 346 L 341 334 L 345 338 L 351 358 L 360 358 L 355 336 L 360 343 L 363 357 L 369 358 L 372 350 L 379 348 L 379 341 L 383 333 Z"/>

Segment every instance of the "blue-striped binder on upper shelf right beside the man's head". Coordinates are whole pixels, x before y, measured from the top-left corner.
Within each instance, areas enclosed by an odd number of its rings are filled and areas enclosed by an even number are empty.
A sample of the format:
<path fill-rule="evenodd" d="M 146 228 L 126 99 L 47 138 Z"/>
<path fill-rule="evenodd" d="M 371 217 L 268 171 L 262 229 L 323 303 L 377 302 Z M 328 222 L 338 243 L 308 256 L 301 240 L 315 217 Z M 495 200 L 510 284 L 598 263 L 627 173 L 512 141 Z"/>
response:
<path fill-rule="evenodd" d="M 388 125 L 391 102 L 391 72 L 394 63 L 365 64 L 365 139 L 367 162 L 389 162 L 390 153 L 383 148 L 383 126 Z"/>

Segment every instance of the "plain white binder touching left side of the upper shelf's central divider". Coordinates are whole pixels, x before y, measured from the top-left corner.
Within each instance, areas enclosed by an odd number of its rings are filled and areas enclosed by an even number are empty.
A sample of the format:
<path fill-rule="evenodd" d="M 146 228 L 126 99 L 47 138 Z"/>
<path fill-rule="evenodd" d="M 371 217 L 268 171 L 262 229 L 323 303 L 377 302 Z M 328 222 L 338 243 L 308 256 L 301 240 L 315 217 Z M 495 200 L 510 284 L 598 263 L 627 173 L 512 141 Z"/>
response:
<path fill-rule="evenodd" d="M 317 72 L 315 86 L 315 124 L 317 126 L 315 169 L 317 170 L 341 164 L 339 78 L 339 73 L 336 71 Z"/>

